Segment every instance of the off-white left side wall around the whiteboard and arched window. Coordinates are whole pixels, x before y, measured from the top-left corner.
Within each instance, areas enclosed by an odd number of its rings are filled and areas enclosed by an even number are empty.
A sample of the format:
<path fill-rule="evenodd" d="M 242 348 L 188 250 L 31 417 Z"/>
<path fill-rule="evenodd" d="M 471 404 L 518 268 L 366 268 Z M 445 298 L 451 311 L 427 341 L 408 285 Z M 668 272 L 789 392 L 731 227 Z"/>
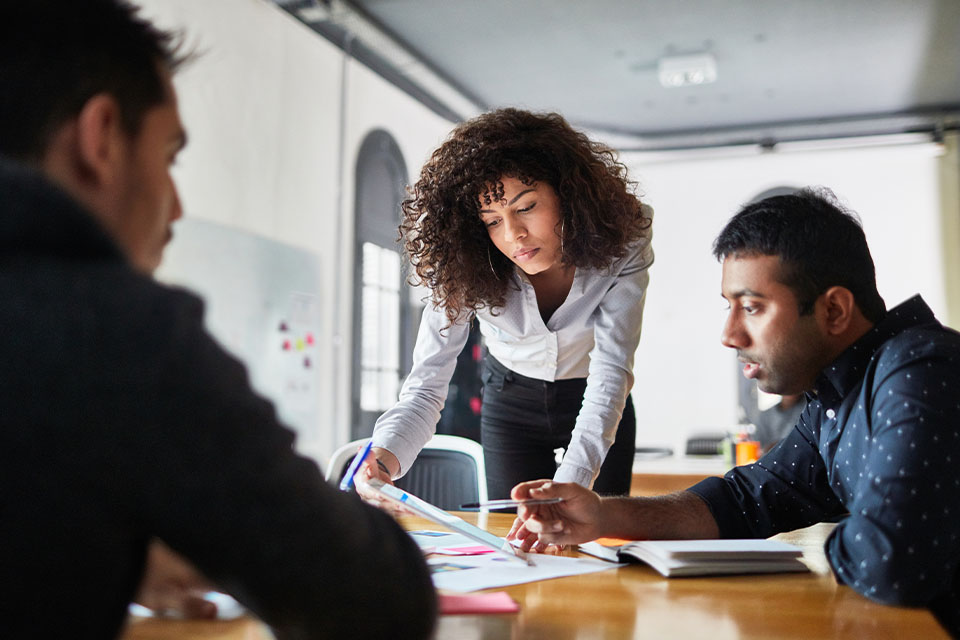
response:
<path fill-rule="evenodd" d="M 322 437 L 299 444 L 323 462 L 349 430 L 353 289 L 346 278 L 359 145 L 371 129 L 385 129 L 408 169 L 418 171 L 451 124 L 362 65 L 345 65 L 338 48 L 266 0 L 137 3 L 161 27 L 183 29 L 201 54 L 175 79 L 189 135 L 174 172 L 185 215 L 317 258 L 321 397 L 311 435 Z M 229 266 L 165 264 L 158 275 L 208 268 Z M 226 335 L 233 329 L 242 328 L 214 331 L 229 347 L 239 343 Z"/>

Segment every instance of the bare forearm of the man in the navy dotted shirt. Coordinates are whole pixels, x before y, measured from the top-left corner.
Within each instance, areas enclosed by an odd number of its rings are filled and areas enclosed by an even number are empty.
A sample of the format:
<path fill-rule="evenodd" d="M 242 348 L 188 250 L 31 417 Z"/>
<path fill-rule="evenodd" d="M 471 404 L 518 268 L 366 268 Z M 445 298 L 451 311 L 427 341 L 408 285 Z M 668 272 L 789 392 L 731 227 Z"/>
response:
<path fill-rule="evenodd" d="M 627 540 L 709 539 L 720 535 L 706 503 L 690 491 L 644 498 L 604 498 L 600 518 L 604 536 Z"/>

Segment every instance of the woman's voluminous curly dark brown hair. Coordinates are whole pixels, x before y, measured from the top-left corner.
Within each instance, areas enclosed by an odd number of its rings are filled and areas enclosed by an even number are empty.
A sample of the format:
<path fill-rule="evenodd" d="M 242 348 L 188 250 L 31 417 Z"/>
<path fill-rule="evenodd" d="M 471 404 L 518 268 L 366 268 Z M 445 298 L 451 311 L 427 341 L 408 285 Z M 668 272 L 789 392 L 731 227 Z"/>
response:
<path fill-rule="evenodd" d="M 564 265 L 608 267 L 651 220 L 613 149 L 557 113 L 497 109 L 457 126 L 407 188 L 400 235 L 416 277 L 452 323 L 465 312 L 502 307 L 513 263 L 493 245 L 480 199 L 503 198 L 501 179 L 545 182 L 564 222 Z M 491 268 L 493 272 L 491 273 Z"/>

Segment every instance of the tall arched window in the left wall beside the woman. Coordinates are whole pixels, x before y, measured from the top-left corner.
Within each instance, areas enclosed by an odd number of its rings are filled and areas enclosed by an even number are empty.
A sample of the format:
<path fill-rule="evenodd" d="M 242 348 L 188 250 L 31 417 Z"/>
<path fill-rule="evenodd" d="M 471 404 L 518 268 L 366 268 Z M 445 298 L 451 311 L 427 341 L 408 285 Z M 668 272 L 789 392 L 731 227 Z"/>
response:
<path fill-rule="evenodd" d="M 400 148 L 383 130 L 367 134 L 357 156 L 353 277 L 351 439 L 373 432 L 397 400 L 409 371 L 416 323 L 404 286 L 397 243 L 407 170 Z"/>

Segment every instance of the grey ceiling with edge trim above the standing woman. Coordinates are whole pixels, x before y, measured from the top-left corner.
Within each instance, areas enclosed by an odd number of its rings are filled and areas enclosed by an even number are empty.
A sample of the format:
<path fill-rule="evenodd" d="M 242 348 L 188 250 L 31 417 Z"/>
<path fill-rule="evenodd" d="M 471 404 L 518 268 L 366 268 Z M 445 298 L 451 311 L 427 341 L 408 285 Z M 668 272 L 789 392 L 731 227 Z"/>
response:
<path fill-rule="evenodd" d="M 960 125 L 960 0 L 276 1 L 453 118 L 556 110 L 636 148 Z M 661 84 L 705 55 L 714 82 Z"/>

